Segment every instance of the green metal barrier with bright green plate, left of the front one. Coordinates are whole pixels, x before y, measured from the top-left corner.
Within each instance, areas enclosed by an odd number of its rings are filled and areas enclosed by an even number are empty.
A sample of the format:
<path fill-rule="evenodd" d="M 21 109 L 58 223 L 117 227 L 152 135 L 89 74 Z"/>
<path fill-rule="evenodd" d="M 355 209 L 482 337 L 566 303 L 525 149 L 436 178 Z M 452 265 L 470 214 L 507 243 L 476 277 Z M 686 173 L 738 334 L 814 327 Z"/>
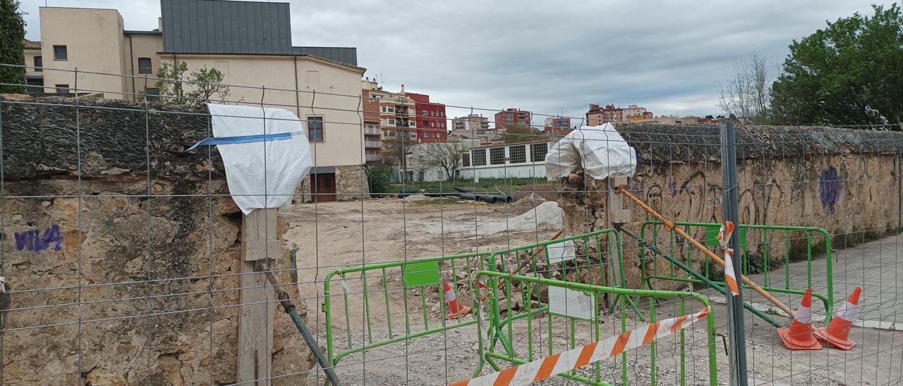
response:
<path fill-rule="evenodd" d="M 609 236 L 611 240 L 609 240 Z M 518 254 L 518 259 L 526 256 L 525 262 L 549 259 L 556 244 L 558 246 L 567 242 L 591 247 L 594 253 L 600 253 L 602 244 L 617 250 L 620 259 L 620 243 L 617 233 L 605 229 L 590 234 L 577 234 L 563 237 L 554 241 L 530 244 L 523 247 L 511 248 L 498 252 L 461 253 L 449 256 L 431 257 L 406 262 L 382 262 L 365 264 L 355 267 L 330 271 L 323 280 L 323 293 L 325 300 L 322 304 L 322 312 L 325 314 L 326 329 L 326 354 L 330 363 L 336 365 L 349 354 L 360 353 L 368 349 L 404 342 L 425 335 L 442 333 L 454 328 L 472 326 L 477 324 L 473 315 L 447 320 L 446 308 L 440 306 L 441 315 L 429 315 L 427 298 L 442 302 L 442 273 L 449 279 L 450 286 L 455 290 L 461 304 L 477 304 L 475 295 L 479 291 L 473 283 L 478 271 L 510 271 L 504 259 L 509 253 Z M 534 254 L 543 254 L 533 257 Z M 581 253 L 585 257 L 586 253 Z M 600 254 L 599 254 L 600 256 Z M 598 258 L 598 257 L 597 257 Z M 525 270 L 534 271 L 535 264 L 527 264 Z M 621 267 L 617 264 L 616 267 Z M 601 270 L 601 267 L 600 267 Z M 463 275 L 461 277 L 460 275 Z M 623 276 L 623 269 L 620 270 Z M 604 274 L 602 275 L 604 278 Z M 341 293 L 336 293 L 336 284 L 340 284 Z M 463 289 L 459 289 L 459 285 Z M 436 289 L 433 292 L 431 289 Z M 409 295 L 409 291 L 414 291 Z M 438 296 L 437 296 L 438 294 Z M 395 297 L 390 295 L 396 295 Z M 409 298 L 420 298 L 411 300 Z M 432 298 L 431 298 L 432 297 Z M 396 298 L 396 299 L 393 299 Z M 400 298 L 400 301 L 398 300 Z M 630 299 L 627 299 L 630 301 Z M 340 304 L 339 304 L 340 303 Z M 352 308 L 360 305 L 362 309 Z M 393 307 L 395 306 L 395 307 Z M 420 309 L 417 309 L 420 308 Z M 401 313 L 393 314 L 391 309 L 401 309 Z M 476 309 L 476 307 L 474 307 Z M 362 312 L 364 316 L 363 327 L 367 331 L 367 338 L 363 342 L 356 342 L 351 334 L 352 313 L 355 313 L 355 321 L 360 320 L 357 315 Z M 397 311 L 396 311 L 397 312 Z M 523 312 L 511 316 L 513 319 L 530 317 L 533 312 Z M 377 317 L 384 320 L 377 321 Z M 404 329 L 400 328 L 400 321 L 404 320 Z M 438 319 L 438 320 L 437 320 Z M 344 336 L 338 326 L 344 322 Z M 398 326 L 396 326 L 398 325 Z M 386 337 L 377 337 L 374 332 L 386 334 Z"/>

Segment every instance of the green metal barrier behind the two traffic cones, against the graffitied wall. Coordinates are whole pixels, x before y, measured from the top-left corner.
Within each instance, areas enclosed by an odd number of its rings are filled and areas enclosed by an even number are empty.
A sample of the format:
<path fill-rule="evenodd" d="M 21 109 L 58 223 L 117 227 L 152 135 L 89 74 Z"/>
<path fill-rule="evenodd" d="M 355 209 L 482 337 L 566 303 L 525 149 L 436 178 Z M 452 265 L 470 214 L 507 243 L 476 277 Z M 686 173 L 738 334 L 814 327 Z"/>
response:
<path fill-rule="evenodd" d="M 704 228 L 705 229 L 705 240 L 704 240 L 703 244 L 706 244 L 709 246 L 717 246 L 718 245 L 718 241 L 715 239 L 715 237 L 717 236 L 718 231 L 721 228 L 721 224 L 675 222 L 675 225 L 683 226 L 684 231 L 687 234 L 699 234 L 700 233 L 699 229 Z M 646 238 L 647 228 L 649 228 L 649 227 L 652 228 L 651 241 L 652 241 L 652 243 L 656 243 L 656 241 L 659 240 L 659 229 L 664 227 L 664 225 L 662 225 L 662 223 L 660 221 L 644 222 L 642 225 L 640 225 L 640 236 L 639 236 L 640 238 L 645 239 L 647 241 L 649 240 Z M 805 293 L 805 289 L 793 289 L 790 286 L 790 272 L 789 272 L 789 264 L 791 262 L 790 252 L 791 252 L 792 247 L 794 246 L 791 243 L 791 241 L 794 239 L 791 235 L 794 233 L 797 233 L 797 234 L 802 233 L 803 237 L 797 237 L 796 240 L 805 240 L 806 263 L 807 263 L 807 267 L 806 267 L 807 268 L 806 269 L 806 287 L 807 288 L 812 287 L 812 273 L 813 273 L 812 272 L 812 259 L 813 259 L 813 245 L 814 245 L 813 235 L 820 234 L 824 237 L 825 259 L 826 259 L 826 265 L 827 265 L 826 270 L 825 270 L 826 272 L 824 274 L 825 274 L 825 280 L 827 280 L 826 281 L 826 285 L 827 285 L 826 292 L 827 293 L 823 295 L 823 294 L 814 292 L 813 296 L 815 296 L 815 298 L 817 298 L 817 299 L 822 300 L 822 303 L 824 303 L 824 310 L 825 310 L 824 324 L 825 324 L 825 326 L 827 326 L 829 323 L 831 323 L 831 318 L 833 317 L 833 304 L 834 304 L 834 302 L 833 302 L 833 270 L 832 270 L 832 260 L 831 260 L 831 257 L 832 257 L 831 235 L 828 234 L 828 231 L 825 230 L 824 228 L 818 228 L 815 226 L 786 226 L 786 225 L 739 225 L 738 228 L 739 228 L 739 232 L 740 232 L 740 250 L 741 250 L 740 255 L 743 256 L 742 260 L 744 262 L 743 266 L 741 267 L 743 274 L 749 275 L 750 273 L 752 273 L 751 272 L 752 267 L 750 266 L 750 259 L 749 259 L 750 248 L 749 248 L 749 244 L 747 243 L 747 241 L 749 239 L 749 234 L 751 232 L 760 232 L 761 233 L 761 242 L 759 244 L 761 244 L 761 246 L 762 246 L 761 258 L 762 258 L 763 266 L 761 268 L 762 268 L 763 282 L 759 283 L 759 285 L 762 287 L 762 289 L 765 289 L 768 292 L 788 293 L 788 294 L 795 294 L 795 295 L 800 295 L 800 296 L 802 296 Z M 783 239 L 785 241 L 784 256 L 783 256 L 783 261 L 784 261 L 784 277 L 782 280 L 783 284 L 784 284 L 783 286 L 770 285 L 773 278 L 771 278 L 769 276 L 773 276 L 773 273 L 769 272 L 770 271 L 769 268 L 770 268 L 770 262 L 772 262 L 773 260 L 768 255 L 769 232 L 772 234 L 772 238 L 774 237 L 774 234 L 777 234 L 777 233 L 782 234 Z M 676 244 L 678 244 L 676 242 L 677 237 L 673 231 L 668 230 L 667 233 L 668 233 L 668 235 L 667 235 L 667 241 L 668 241 L 667 249 L 668 250 L 666 252 L 663 251 L 663 253 L 661 253 L 661 255 L 665 256 L 666 254 L 668 254 L 673 257 L 673 256 L 675 256 Z M 653 259 L 652 274 L 649 274 L 648 270 L 647 270 L 647 259 L 646 259 L 646 253 L 645 253 L 646 249 L 650 249 L 650 248 L 645 248 L 643 245 L 640 245 L 640 256 L 641 256 L 640 271 L 642 274 L 642 281 L 644 284 L 647 285 L 647 287 L 649 289 L 653 289 L 652 280 L 672 280 L 672 281 L 682 281 L 682 282 L 687 282 L 687 283 L 703 284 L 703 285 L 711 285 L 713 282 L 714 284 L 717 284 L 718 286 L 721 286 L 721 287 L 724 286 L 724 283 L 721 280 L 712 280 L 710 282 L 710 280 L 703 280 L 702 278 L 678 277 L 676 275 L 677 269 L 681 269 L 682 267 L 679 267 L 679 266 L 677 266 L 677 264 L 674 264 L 674 263 L 668 264 L 667 271 L 660 271 L 659 267 L 658 267 L 658 262 L 656 259 Z M 659 248 L 659 249 L 661 249 L 661 248 Z M 694 266 L 694 254 L 695 253 L 698 253 L 699 255 L 701 255 L 702 256 L 701 258 L 703 259 L 703 261 L 702 261 L 703 262 L 703 272 L 701 272 L 701 273 L 705 278 L 712 277 L 712 275 L 710 274 L 712 262 L 709 261 L 708 257 L 706 257 L 704 253 L 694 251 L 694 249 L 689 246 L 687 247 L 687 249 L 685 250 L 684 253 L 686 254 L 687 267 Z M 684 271 L 686 271 L 685 268 L 684 268 Z M 745 286 L 745 285 L 744 285 L 744 287 L 749 288 L 748 286 Z M 768 321 L 768 323 L 774 324 L 774 321 L 770 320 L 770 318 L 768 318 L 768 317 L 763 317 L 763 319 L 766 319 L 766 321 Z"/>

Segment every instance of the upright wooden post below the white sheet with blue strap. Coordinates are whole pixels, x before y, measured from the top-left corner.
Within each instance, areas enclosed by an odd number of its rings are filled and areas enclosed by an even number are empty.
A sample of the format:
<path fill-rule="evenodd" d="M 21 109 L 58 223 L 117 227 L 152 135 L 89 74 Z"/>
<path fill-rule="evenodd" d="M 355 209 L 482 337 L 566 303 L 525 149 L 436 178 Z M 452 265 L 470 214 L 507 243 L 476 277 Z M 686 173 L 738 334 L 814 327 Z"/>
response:
<path fill-rule="evenodd" d="M 241 221 L 241 292 L 238 308 L 237 381 L 269 385 L 273 353 L 273 312 L 276 307 L 266 276 L 257 264 L 271 262 L 281 244 L 276 241 L 278 208 L 255 209 Z M 269 260 L 267 260 L 269 259 Z"/>

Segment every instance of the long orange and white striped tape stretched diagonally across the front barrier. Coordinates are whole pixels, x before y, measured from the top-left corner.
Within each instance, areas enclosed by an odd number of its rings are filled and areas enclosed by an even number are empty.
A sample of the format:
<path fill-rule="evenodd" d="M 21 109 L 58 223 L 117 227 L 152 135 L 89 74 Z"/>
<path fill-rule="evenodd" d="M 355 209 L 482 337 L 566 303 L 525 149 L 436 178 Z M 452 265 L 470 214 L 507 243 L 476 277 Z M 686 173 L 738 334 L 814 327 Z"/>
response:
<path fill-rule="evenodd" d="M 508 367 L 500 372 L 493 372 L 468 381 L 454 382 L 450 386 L 515 386 L 543 381 L 555 374 L 569 372 L 641 345 L 647 345 L 660 337 L 674 334 L 694 324 L 706 315 L 709 315 L 709 308 L 703 308 L 693 315 L 660 320 L 648 326 L 637 328 L 621 335 L 611 336 L 573 350 L 547 356 L 519 366 Z"/>

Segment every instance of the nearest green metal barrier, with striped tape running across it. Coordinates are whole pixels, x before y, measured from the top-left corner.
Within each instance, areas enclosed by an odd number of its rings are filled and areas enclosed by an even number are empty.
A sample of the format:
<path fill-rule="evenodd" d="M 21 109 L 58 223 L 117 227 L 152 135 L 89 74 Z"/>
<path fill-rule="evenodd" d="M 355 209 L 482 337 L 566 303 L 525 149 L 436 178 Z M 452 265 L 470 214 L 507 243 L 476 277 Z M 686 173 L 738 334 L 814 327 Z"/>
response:
<path fill-rule="evenodd" d="M 573 349 L 578 345 L 589 344 L 594 341 L 598 341 L 602 339 L 604 336 L 601 335 L 600 331 L 600 312 L 597 309 L 593 309 L 589 314 L 591 317 L 588 319 L 582 319 L 580 317 L 572 317 L 572 316 L 553 316 L 553 312 L 551 311 L 548 295 L 546 296 L 545 305 L 542 301 L 542 293 L 543 286 L 545 286 L 546 291 L 551 290 L 550 288 L 556 287 L 565 290 L 573 290 L 580 291 L 584 294 L 590 294 L 590 299 L 597 299 L 600 294 L 614 294 L 617 296 L 616 299 L 619 299 L 617 308 L 620 310 L 620 326 L 619 333 L 623 333 L 628 330 L 627 326 L 627 309 L 628 309 L 628 299 L 631 296 L 638 297 L 647 297 L 648 301 L 648 315 L 649 322 L 654 322 L 656 318 L 656 303 L 661 307 L 661 302 L 659 299 L 675 299 L 678 303 L 679 314 L 685 315 L 685 300 L 686 299 L 694 299 L 700 303 L 702 307 L 709 307 L 709 299 L 705 298 L 703 295 L 687 292 L 687 291 L 667 291 L 667 290 L 655 290 L 655 289 L 622 289 L 622 288 L 614 288 L 607 286 L 599 286 L 599 285 L 591 285 L 584 284 L 580 282 L 573 281 L 563 281 L 563 280 L 551 280 L 545 279 L 537 276 L 526 276 L 526 275 L 512 275 L 504 272 L 498 271 L 480 271 L 478 274 L 478 279 L 481 277 L 486 277 L 489 279 L 489 288 L 492 289 L 492 295 L 489 300 L 489 326 L 486 328 L 486 336 L 489 345 L 485 345 L 484 341 L 480 340 L 479 345 L 479 354 L 481 357 L 479 367 L 475 372 L 474 376 L 479 375 L 482 370 L 483 363 L 489 363 L 493 369 L 496 371 L 501 370 L 502 366 L 496 363 L 497 360 L 506 361 L 508 363 L 514 364 L 523 364 L 532 362 L 538 357 L 544 357 L 553 355 L 556 352 L 563 351 L 565 349 Z M 498 302 L 498 291 L 499 286 L 498 283 L 501 282 L 504 288 L 505 298 L 507 299 L 507 308 L 501 308 Z M 512 298 L 512 290 L 513 288 L 519 289 L 519 295 L 521 296 L 522 304 L 530 305 L 533 299 L 540 299 L 538 304 L 538 308 L 527 307 L 527 312 L 531 314 L 529 317 L 524 318 L 519 323 L 520 325 L 517 328 L 513 327 L 515 322 L 518 320 L 515 317 L 510 317 L 514 315 L 515 310 L 511 308 L 511 298 Z M 548 293 L 548 292 L 546 292 Z M 515 294 L 517 296 L 517 293 Z M 596 303 L 593 300 L 593 303 Z M 506 316 L 502 316 L 502 311 L 506 311 Z M 479 310 L 478 310 L 479 312 Z M 537 326 L 540 323 L 534 320 L 534 316 L 540 316 L 545 314 L 545 326 Z M 478 316 L 479 317 L 479 316 Z M 540 317 L 542 319 L 542 317 Z M 564 335 L 566 338 L 564 339 L 566 342 L 561 342 L 562 339 L 555 338 L 554 326 L 563 327 Z M 526 325 L 526 326 L 524 326 Z M 536 327 L 536 328 L 535 328 Z M 480 324 L 479 335 L 483 335 L 483 326 Z M 544 329 L 545 331 L 540 331 Z M 513 332 L 514 329 L 517 329 L 517 333 Z M 561 328 L 558 328 L 561 329 Z M 705 358 L 708 361 L 708 380 L 709 383 L 714 385 L 718 384 L 718 372 L 717 372 L 717 363 L 715 356 L 715 339 L 714 339 L 714 316 L 713 313 L 710 312 L 706 317 L 706 347 L 707 354 L 705 354 Z M 578 331 L 580 331 L 578 333 Z M 559 334 L 561 331 L 558 332 Z M 542 345 L 542 336 L 545 335 L 546 344 L 545 347 Z M 578 336 L 579 335 L 579 336 Z M 614 335 L 614 334 L 612 334 Z M 525 339 L 526 336 L 526 339 Z M 680 384 L 686 384 L 686 349 L 687 345 L 685 342 L 685 332 L 682 330 L 678 333 L 679 339 L 679 381 Z M 526 342 L 524 342 L 526 340 Z M 538 344 L 536 341 L 540 341 Z M 558 346 L 555 347 L 554 344 Z M 565 346 L 563 346 L 564 344 Z M 526 345 L 526 346 L 525 346 Z M 498 347 L 501 347 L 501 352 L 497 352 Z M 638 351 L 647 350 L 648 356 L 648 364 L 650 366 L 650 384 L 657 384 L 657 369 L 658 365 L 656 364 L 656 342 L 652 342 L 647 346 L 640 347 L 637 350 L 634 350 L 632 354 L 638 356 Z M 604 362 L 604 361 L 602 361 Z M 691 361 L 691 365 L 695 361 Z M 576 371 L 565 372 L 561 375 L 564 378 L 580 381 L 583 383 L 591 384 L 591 385 L 608 385 L 610 383 L 602 381 L 602 375 L 600 371 L 600 363 L 594 363 L 593 369 L 590 375 L 581 374 Z M 620 375 L 622 384 L 628 383 L 628 353 L 625 352 L 621 354 L 620 358 Z"/>

